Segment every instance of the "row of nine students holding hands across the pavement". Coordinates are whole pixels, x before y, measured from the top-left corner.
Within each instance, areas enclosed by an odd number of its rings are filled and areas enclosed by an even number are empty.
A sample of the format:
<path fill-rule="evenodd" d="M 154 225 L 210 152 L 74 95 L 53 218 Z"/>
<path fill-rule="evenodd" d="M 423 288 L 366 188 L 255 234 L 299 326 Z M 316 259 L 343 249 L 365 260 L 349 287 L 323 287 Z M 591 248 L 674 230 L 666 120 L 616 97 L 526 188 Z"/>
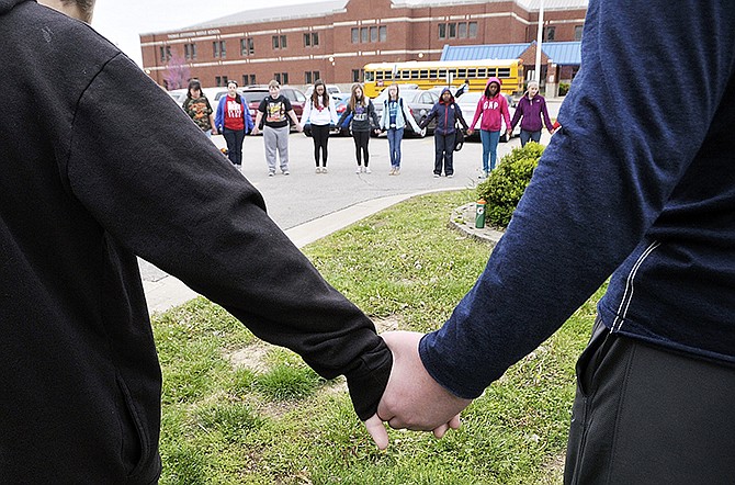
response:
<path fill-rule="evenodd" d="M 529 140 L 538 143 L 541 139 L 542 123 L 545 123 L 551 134 L 555 131 L 549 117 L 545 100 L 539 94 L 538 82 L 529 82 L 528 91 L 519 101 L 512 122 L 508 102 L 500 90 L 501 83 L 502 81 L 498 78 L 488 79 L 470 125 L 465 122 L 462 110 L 455 103 L 449 88 L 442 90 L 439 101 L 421 123 L 417 124 L 410 111 L 407 111 L 396 83 L 387 88 L 388 97 L 384 101 L 380 119 L 375 105 L 364 94 L 359 83 L 352 86 L 347 108 L 338 119 L 335 101 L 320 79 L 314 83 L 314 91 L 304 105 L 301 123 L 289 99 L 280 94 L 280 84 L 275 80 L 269 83 L 269 95 L 261 101 L 258 108 L 255 126 L 247 102 L 238 94 L 235 81 L 228 82 L 227 95 L 219 100 L 215 116 L 196 80 L 189 84 L 183 109 L 207 136 L 216 135 L 217 131 L 223 134 L 227 143 L 228 158 L 238 168 L 242 163 L 245 135 L 248 133 L 257 135 L 262 131 L 269 177 L 275 174 L 276 155 L 281 172 L 285 176 L 291 173 L 289 169 L 289 119 L 297 131 L 303 131 L 304 125 L 310 125 L 316 173 L 327 173 L 328 140 L 332 126 L 342 126 L 349 120 L 355 148 L 355 173 L 372 172 L 368 149 L 370 135 L 371 132 L 376 135 L 385 132 L 388 138 L 391 176 L 400 173 L 400 146 L 405 127 L 410 125 L 414 132 L 419 132 L 436 120 L 433 168 L 436 178 L 442 174 L 448 178 L 454 177 L 453 157 L 457 125 L 461 125 L 467 135 L 472 135 L 474 126 L 479 121 L 479 135 L 483 143 L 483 168 L 479 177 L 486 178 L 497 165 L 497 146 L 504 121 L 508 137 L 520 122 L 521 146 Z"/>

